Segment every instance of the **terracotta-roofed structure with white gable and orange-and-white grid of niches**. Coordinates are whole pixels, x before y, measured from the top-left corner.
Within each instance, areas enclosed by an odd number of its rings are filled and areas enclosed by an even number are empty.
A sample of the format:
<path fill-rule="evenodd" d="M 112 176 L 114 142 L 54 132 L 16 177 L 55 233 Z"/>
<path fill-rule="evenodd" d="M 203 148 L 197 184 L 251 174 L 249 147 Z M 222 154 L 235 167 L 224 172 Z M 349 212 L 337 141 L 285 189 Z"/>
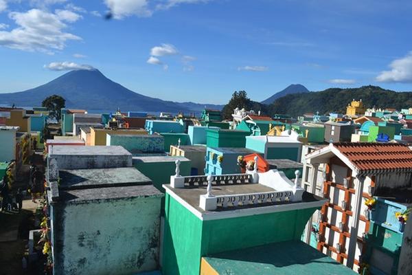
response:
<path fill-rule="evenodd" d="M 363 266 L 370 226 L 365 201 L 391 190 L 411 188 L 412 151 L 396 143 L 331 143 L 306 155 L 302 179 L 309 178 L 308 191 L 314 193 L 318 173 L 308 175 L 307 164 L 312 170 L 326 166 L 323 197 L 328 202 L 318 213 L 317 249 L 358 270 Z M 311 231 L 312 221 L 306 226 L 307 243 Z"/>

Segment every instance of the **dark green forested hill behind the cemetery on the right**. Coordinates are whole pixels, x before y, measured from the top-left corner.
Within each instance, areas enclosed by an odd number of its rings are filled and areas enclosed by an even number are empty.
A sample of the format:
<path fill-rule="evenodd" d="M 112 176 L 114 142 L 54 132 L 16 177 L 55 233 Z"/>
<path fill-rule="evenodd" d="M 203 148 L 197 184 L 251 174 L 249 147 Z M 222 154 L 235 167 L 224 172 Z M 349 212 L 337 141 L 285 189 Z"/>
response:
<path fill-rule="evenodd" d="M 363 86 L 359 88 L 340 89 L 330 88 L 324 91 L 304 94 L 287 95 L 278 98 L 269 105 L 267 112 L 288 113 L 293 116 L 307 112 L 319 111 L 321 114 L 333 111 L 345 112 L 347 104 L 352 99 L 362 99 L 365 107 L 377 108 L 410 108 L 412 107 L 412 92 L 396 92 L 382 89 L 377 86 Z"/>

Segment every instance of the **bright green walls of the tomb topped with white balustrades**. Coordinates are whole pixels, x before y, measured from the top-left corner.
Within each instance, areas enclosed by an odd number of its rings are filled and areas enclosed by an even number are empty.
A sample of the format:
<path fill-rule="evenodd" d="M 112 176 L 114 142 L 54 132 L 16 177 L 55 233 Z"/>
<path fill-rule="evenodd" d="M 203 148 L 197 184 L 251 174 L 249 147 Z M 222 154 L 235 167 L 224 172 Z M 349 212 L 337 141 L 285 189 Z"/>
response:
<path fill-rule="evenodd" d="M 166 194 L 163 245 L 164 251 L 171 253 L 163 254 L 162 272 L 164 275 L 199 274 L 201 256 L 299 240 L 306 222 L 316 209 L 201 221 Z"/>

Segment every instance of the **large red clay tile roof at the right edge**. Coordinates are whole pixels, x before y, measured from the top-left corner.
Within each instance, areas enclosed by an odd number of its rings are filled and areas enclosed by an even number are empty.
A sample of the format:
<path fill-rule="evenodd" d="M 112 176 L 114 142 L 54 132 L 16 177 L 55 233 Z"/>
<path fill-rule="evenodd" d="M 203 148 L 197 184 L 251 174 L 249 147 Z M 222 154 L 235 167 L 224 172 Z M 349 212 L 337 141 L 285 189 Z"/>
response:
<path fill-rule="evenodd" d="M 334 143 L 359 170 L 412 170 L 412 150 L 405 144 Z"/>

